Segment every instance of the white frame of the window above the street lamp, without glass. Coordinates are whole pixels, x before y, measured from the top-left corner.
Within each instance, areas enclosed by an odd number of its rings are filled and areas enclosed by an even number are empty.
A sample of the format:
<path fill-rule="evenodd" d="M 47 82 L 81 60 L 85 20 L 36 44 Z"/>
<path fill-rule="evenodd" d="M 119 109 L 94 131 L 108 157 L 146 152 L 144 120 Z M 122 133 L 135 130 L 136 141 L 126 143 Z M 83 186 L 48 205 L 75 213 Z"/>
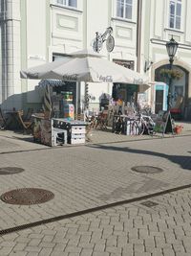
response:
<path fill-rule="evenodd" d="M 175 13 L 171 13 L 171 4 L 175 6 Z M 180 5 L 180 15 L 177 14 L 178 4 Z M 181 16 L 182 16 L 182 1 L 181 0 L 170 0 L 169 1 L 169 28 L 180 30 L 181 29 Z M 177 19 L 180 18 L 180 28 L 177 27 Z M 171 26 L 171 19 L 173 19 L 173 26 Z"/>

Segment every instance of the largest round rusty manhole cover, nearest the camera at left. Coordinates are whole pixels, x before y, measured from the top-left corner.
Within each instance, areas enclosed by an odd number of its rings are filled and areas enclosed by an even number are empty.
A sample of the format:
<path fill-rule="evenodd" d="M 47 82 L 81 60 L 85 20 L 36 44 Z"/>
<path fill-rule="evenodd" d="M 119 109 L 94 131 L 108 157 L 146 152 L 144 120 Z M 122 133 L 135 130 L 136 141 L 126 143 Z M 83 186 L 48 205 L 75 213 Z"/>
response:
<path fill-rule="evenodd" d="M 30 205 L 42 203 L 53 199 L 54 195 L 51 191 L 36 188 L 24 188 L 11 190 L 1 196 L 6 203 Z"/>

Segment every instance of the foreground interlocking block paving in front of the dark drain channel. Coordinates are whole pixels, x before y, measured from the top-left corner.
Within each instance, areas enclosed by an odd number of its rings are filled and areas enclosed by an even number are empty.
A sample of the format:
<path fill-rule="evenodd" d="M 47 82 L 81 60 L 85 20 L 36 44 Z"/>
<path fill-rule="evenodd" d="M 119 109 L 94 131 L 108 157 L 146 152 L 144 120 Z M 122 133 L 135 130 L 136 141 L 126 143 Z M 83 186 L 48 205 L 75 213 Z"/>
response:
<path fill-rule="evenodd" d="M 1 236 L 0 255 L 190 256 L 191 189 L 149 198 L 150 207 L 145 202 Z"/>

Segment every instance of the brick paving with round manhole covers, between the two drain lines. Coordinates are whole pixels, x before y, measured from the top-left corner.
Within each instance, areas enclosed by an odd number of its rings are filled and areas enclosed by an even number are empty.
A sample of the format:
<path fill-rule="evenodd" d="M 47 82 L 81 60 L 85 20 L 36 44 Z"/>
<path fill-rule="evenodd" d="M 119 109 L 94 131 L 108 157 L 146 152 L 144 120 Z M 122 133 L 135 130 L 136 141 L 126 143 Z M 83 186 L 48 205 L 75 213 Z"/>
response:
<path fill-rule="evenodd" d="M 1 175 L 1 195 L 24 187 L 42 188 L 54 194 L 52 200 L 31 206 L 0 201 L 0 229 L 189 184 L 189 151 L 188 137 L 178 137 L 0 154 L 1 167 L 25 169 L 17 175 Z M 138 174 L 131 170 L 138 165 L 156 166 L 163 172 Z"/>

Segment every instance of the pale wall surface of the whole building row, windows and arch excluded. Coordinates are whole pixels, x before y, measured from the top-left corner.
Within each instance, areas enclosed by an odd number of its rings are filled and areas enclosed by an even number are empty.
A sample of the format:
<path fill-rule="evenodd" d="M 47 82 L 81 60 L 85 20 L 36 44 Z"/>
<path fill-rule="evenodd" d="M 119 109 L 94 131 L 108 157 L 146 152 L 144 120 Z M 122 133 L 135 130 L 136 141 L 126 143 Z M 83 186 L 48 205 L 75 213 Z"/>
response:
<path fill-rule="evenodd" d="M 169 29 L 169 0 L 134 0 L 133 18 L 117 17 L 117 0 L 77 0 L 77 8 L 61 7 L 56 0 L 1 1 L 0 33 L 0 102 L 11 107 L 36 104 L 40 101 L 32 93 L 38 81 L 24 81 L 19 70 L 52 61 L 53 54 L 69 55 L 83 48 L 91 48 L 96 32 L 103 34 L 111 26 L 115 37 L 114 51 L 101 50 L 104 58 L 132 60 L 137 67 L 138 3 L 142 2 L 140 72 L 155 80 L 155 70 L 168 63 L 165 43 L 173 35 L 180 43 L 175 64 L 190 73 L 191 59 L 191 1 L 182 0 L 181 28 Z M 8 18 L 9 17 L 9 20 Z M 153 62 L 153 64 L 151 64 Z M 9 63 L 9 64 L 8 64 Z M 144 67 L 148 67 L 144 71 Z M 188 75 L 188 97 L 191 97 Z M 19 94 L 24 94 L 23 100 Z M 97 106 L 101 93 L 112 92 L 112 84 L 89 84 L 89 93 L 96 97 L 91 105 Z M 11 95 L 18 97 L 11 97 Z M 81 83 L 81 98 L 84 83 Z M 8 101 L 9 99 L 13 99 Z M 150 105 L 154 102 L 154 86 L 146 93 Z M 7 99 L 7 100 L 6 100 Z M 7 104 L 8 103 L 8 104 Z M 10 105 L 10 106 L 9 106 Z M 189 105 L 189 102 L 187 103 Z"/>

